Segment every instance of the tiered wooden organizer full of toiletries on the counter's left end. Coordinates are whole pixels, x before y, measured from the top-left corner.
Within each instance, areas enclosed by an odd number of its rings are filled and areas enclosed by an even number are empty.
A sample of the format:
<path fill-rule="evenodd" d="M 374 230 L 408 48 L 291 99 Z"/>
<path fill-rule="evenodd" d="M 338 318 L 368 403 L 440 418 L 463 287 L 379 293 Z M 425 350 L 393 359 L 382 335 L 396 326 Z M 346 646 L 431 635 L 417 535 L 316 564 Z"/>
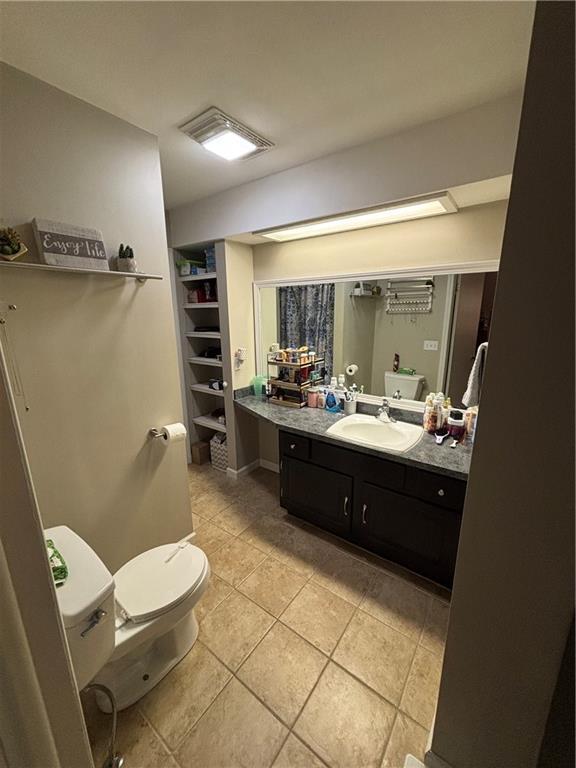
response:
<path fill-rule="evenodd" d="M 322 381 L 317 367 L 323 363 L 323 357 L 306 348 L 270 352 L 267 358 L 270 402 L 287 408 L 303 408 L 308 387 Z M 271 369 L 276 370 L 275 376 L 271 375 Z"/>

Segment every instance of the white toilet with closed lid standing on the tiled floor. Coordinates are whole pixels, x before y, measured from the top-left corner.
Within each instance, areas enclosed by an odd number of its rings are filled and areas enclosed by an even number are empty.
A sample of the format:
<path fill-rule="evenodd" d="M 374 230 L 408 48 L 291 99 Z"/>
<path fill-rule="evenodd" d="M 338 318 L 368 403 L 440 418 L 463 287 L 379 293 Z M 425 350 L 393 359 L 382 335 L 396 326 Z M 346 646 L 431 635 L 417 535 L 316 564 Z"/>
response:
<path fill-rule="evenodd" d="M 192 648 L 194 606 L 208 586 L 210 565 L 188 542 L 164 544 L 112 574 L 88 544 L 65 525 L 49 528 L 68 566 L 56 594 L 78 690 L 98 682 L 118 709 L 138 701 Z M 98 705 L 110 711 L 97 694 Z"/>

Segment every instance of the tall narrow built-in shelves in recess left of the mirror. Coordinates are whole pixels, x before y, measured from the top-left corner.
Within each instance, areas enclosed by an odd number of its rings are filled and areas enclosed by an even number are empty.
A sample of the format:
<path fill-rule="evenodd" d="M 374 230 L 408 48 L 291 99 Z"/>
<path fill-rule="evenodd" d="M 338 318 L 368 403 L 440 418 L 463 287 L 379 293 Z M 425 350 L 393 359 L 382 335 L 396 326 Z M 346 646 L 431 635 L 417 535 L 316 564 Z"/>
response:
<path fill-rule="evenodd" d="M 222 346 L 227 329 L 222 327 L 219 275 L 223 269 L 222 243 L 191 246 L 174 252 L 175 261 L 191 259 L 205 263 L 205 249 L 215 248 L 216 269 L 198 275 L 180 276 L 174 267 L 173 290 L 177 304 L 182 350 L 182 387 L 186 402 L 190 444 L 208 442 L 215 432 L 227 432 L 218 419 L 224 412 L 229 422 L 229 398 L 224 389 L 212 389 L 209 379 L 223 380 L 228 370 Z M 220 263 L 220 266 L 219 266 Z M 208 283 L 209 285 L 205 285 Z M 210 299 L 205 301 L 204 299 Z"/>

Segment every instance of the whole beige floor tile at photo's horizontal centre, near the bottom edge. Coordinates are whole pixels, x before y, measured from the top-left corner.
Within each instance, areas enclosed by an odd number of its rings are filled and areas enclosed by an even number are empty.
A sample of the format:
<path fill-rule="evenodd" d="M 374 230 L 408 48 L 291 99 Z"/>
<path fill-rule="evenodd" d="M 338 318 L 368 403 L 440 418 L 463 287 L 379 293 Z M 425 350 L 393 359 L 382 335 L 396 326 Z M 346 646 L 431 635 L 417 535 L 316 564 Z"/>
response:
<path fill-rule="evenodd" d="M 320 651 L 277 623 L 236 674 L 275 715 L 292 726 L 326 663 Z"/>

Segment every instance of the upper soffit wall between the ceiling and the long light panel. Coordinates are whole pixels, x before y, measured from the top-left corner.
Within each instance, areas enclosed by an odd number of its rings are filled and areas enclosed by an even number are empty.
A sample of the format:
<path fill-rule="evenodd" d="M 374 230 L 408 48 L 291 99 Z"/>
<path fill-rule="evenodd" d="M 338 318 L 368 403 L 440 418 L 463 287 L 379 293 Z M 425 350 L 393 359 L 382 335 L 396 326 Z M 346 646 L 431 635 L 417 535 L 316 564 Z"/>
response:
<path fill-rule="evenodd" d="M 512 170 L 520 105 L 521 93 L 515 93 L 173 208 L 171 244 L 181 247 L 504 176 Z"/>

